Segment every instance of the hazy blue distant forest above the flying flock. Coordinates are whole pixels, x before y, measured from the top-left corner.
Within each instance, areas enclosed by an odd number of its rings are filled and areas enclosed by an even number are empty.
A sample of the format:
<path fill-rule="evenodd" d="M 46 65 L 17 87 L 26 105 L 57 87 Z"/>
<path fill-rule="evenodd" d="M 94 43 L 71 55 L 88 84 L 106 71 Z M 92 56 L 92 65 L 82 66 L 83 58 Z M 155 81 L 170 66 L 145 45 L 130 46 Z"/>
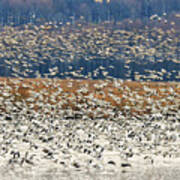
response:
<path fill-rule="evenodd" d="M 180 12 L 180 0 L 0 0 L 0 24 L 146 20 Z"/>

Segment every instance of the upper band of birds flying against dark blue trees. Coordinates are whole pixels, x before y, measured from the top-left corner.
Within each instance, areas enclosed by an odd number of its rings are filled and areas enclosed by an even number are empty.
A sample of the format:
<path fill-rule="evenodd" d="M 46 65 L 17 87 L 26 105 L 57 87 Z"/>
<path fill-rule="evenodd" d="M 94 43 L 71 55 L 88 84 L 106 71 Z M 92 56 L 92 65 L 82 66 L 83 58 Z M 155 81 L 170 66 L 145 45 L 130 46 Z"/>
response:
<path fill-rule="evenodd" d="M 0 62 L 0 76 L 179 81 L 180 34 L 173 26 L 4 26 Z"/>

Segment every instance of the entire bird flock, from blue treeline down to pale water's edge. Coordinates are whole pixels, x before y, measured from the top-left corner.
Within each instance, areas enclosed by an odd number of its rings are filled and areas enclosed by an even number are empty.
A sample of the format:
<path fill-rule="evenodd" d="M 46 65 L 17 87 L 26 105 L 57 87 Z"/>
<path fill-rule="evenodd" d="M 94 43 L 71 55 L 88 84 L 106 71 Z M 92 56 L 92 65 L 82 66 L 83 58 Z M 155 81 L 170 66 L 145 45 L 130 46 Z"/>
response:
<path fill-rule="evenodd" d="M 180 157 L 180 84 L 144 82 L 180 80 L 177 29 L 4 26 L 0 62 L 16 77 L 0 79 L 1 167 L 126 172 Z"/>

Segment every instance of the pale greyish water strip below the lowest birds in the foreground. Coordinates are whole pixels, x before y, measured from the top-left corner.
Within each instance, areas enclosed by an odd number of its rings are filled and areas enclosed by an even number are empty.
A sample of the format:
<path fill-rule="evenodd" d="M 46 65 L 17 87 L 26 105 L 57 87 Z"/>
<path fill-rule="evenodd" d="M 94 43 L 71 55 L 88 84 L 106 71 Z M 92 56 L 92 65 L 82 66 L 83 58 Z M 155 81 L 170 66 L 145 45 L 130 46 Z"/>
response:
<path fill-rule="evenodd" d="M 3 175 L 3 176 L 2 176 Z M 0 178 L 2 180 L 151 180 L 151 179 L 162 179 L 162 180 L 172 180 L 172 179 L 180 179 L 180 169 L 179 167 L 158 167 L 158 168 L 148 168 L 137 169 L 133 172 L 119 172 L 119 173 L 84 173 L 84 172 L 44 172 L 44 173 L 26 173 L 24 172 L 16 172 L 16 173 L 6 173 L 1 174 Z"/>

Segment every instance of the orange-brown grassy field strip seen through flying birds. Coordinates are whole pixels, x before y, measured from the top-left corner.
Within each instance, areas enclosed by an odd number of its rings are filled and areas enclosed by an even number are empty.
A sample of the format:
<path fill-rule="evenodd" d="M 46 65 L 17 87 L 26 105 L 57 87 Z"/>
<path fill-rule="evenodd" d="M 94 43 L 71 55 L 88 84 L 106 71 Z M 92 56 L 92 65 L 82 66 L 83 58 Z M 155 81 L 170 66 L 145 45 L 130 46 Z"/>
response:
<path fill-rule="evenodd" d="M 119 84 L 115 86 L 115 81 L 112 80 L 19 79 L 16 83 L 14 80 L 18 79 L 0 78 L 0 96 L 3 96 L 2 92 L 5 92 L 2 89 L 10 86 L 12 89 L 8 92 L 14 95 L 13 102 L 24 101 L 27 105 L 30 103 L 26 100 L 31 97 L 32 91 L 41 93 L 45 90 L 47 93 L 43 94 L 43 99 L 47 101 L 44 103 L 56 105 L 65 99 L 66 102 L 62 105 L 62 109 L 74 111 L 80 110 L 77 104 L 88 104 L 92 100 L 109 102 L 110 107 L 116 107 L 123 114 L 127 113 L 126 107 L 130 107 L 128 113 L 139 115 L 162 112 L 165 106 L 175 108 L 174 111 L 180 109 L 180 83 L 175 82 L 117 81 Z M 102 87 L 94 85 L 102 85 Z M 78 92 L 82 88 L 85 88 L 86 91 Z M 54 97 L 55 101 L 51 100 L 50 96 L 58 89 L 61 89 L 61 92 Z M 90 94 L 93 95 L 93 99 L 88 97 Z M 116 101 L 113 97 L 120 100 Z M 37 101 L 39 101 L 38 97 L 35 99 L 35 102 Z M 93 108 L 95 109 L 97 106 Z M 0 109 L 6 111 L 5 106 L 0 105 Z M 37 103 L 34 109 L 39 109 Z M 90 113 L 89 116 L 93 115 Z M 106 113 L 104 114 L 104 118 L 108 118 L 108 116 L 106 117 Z"/>

